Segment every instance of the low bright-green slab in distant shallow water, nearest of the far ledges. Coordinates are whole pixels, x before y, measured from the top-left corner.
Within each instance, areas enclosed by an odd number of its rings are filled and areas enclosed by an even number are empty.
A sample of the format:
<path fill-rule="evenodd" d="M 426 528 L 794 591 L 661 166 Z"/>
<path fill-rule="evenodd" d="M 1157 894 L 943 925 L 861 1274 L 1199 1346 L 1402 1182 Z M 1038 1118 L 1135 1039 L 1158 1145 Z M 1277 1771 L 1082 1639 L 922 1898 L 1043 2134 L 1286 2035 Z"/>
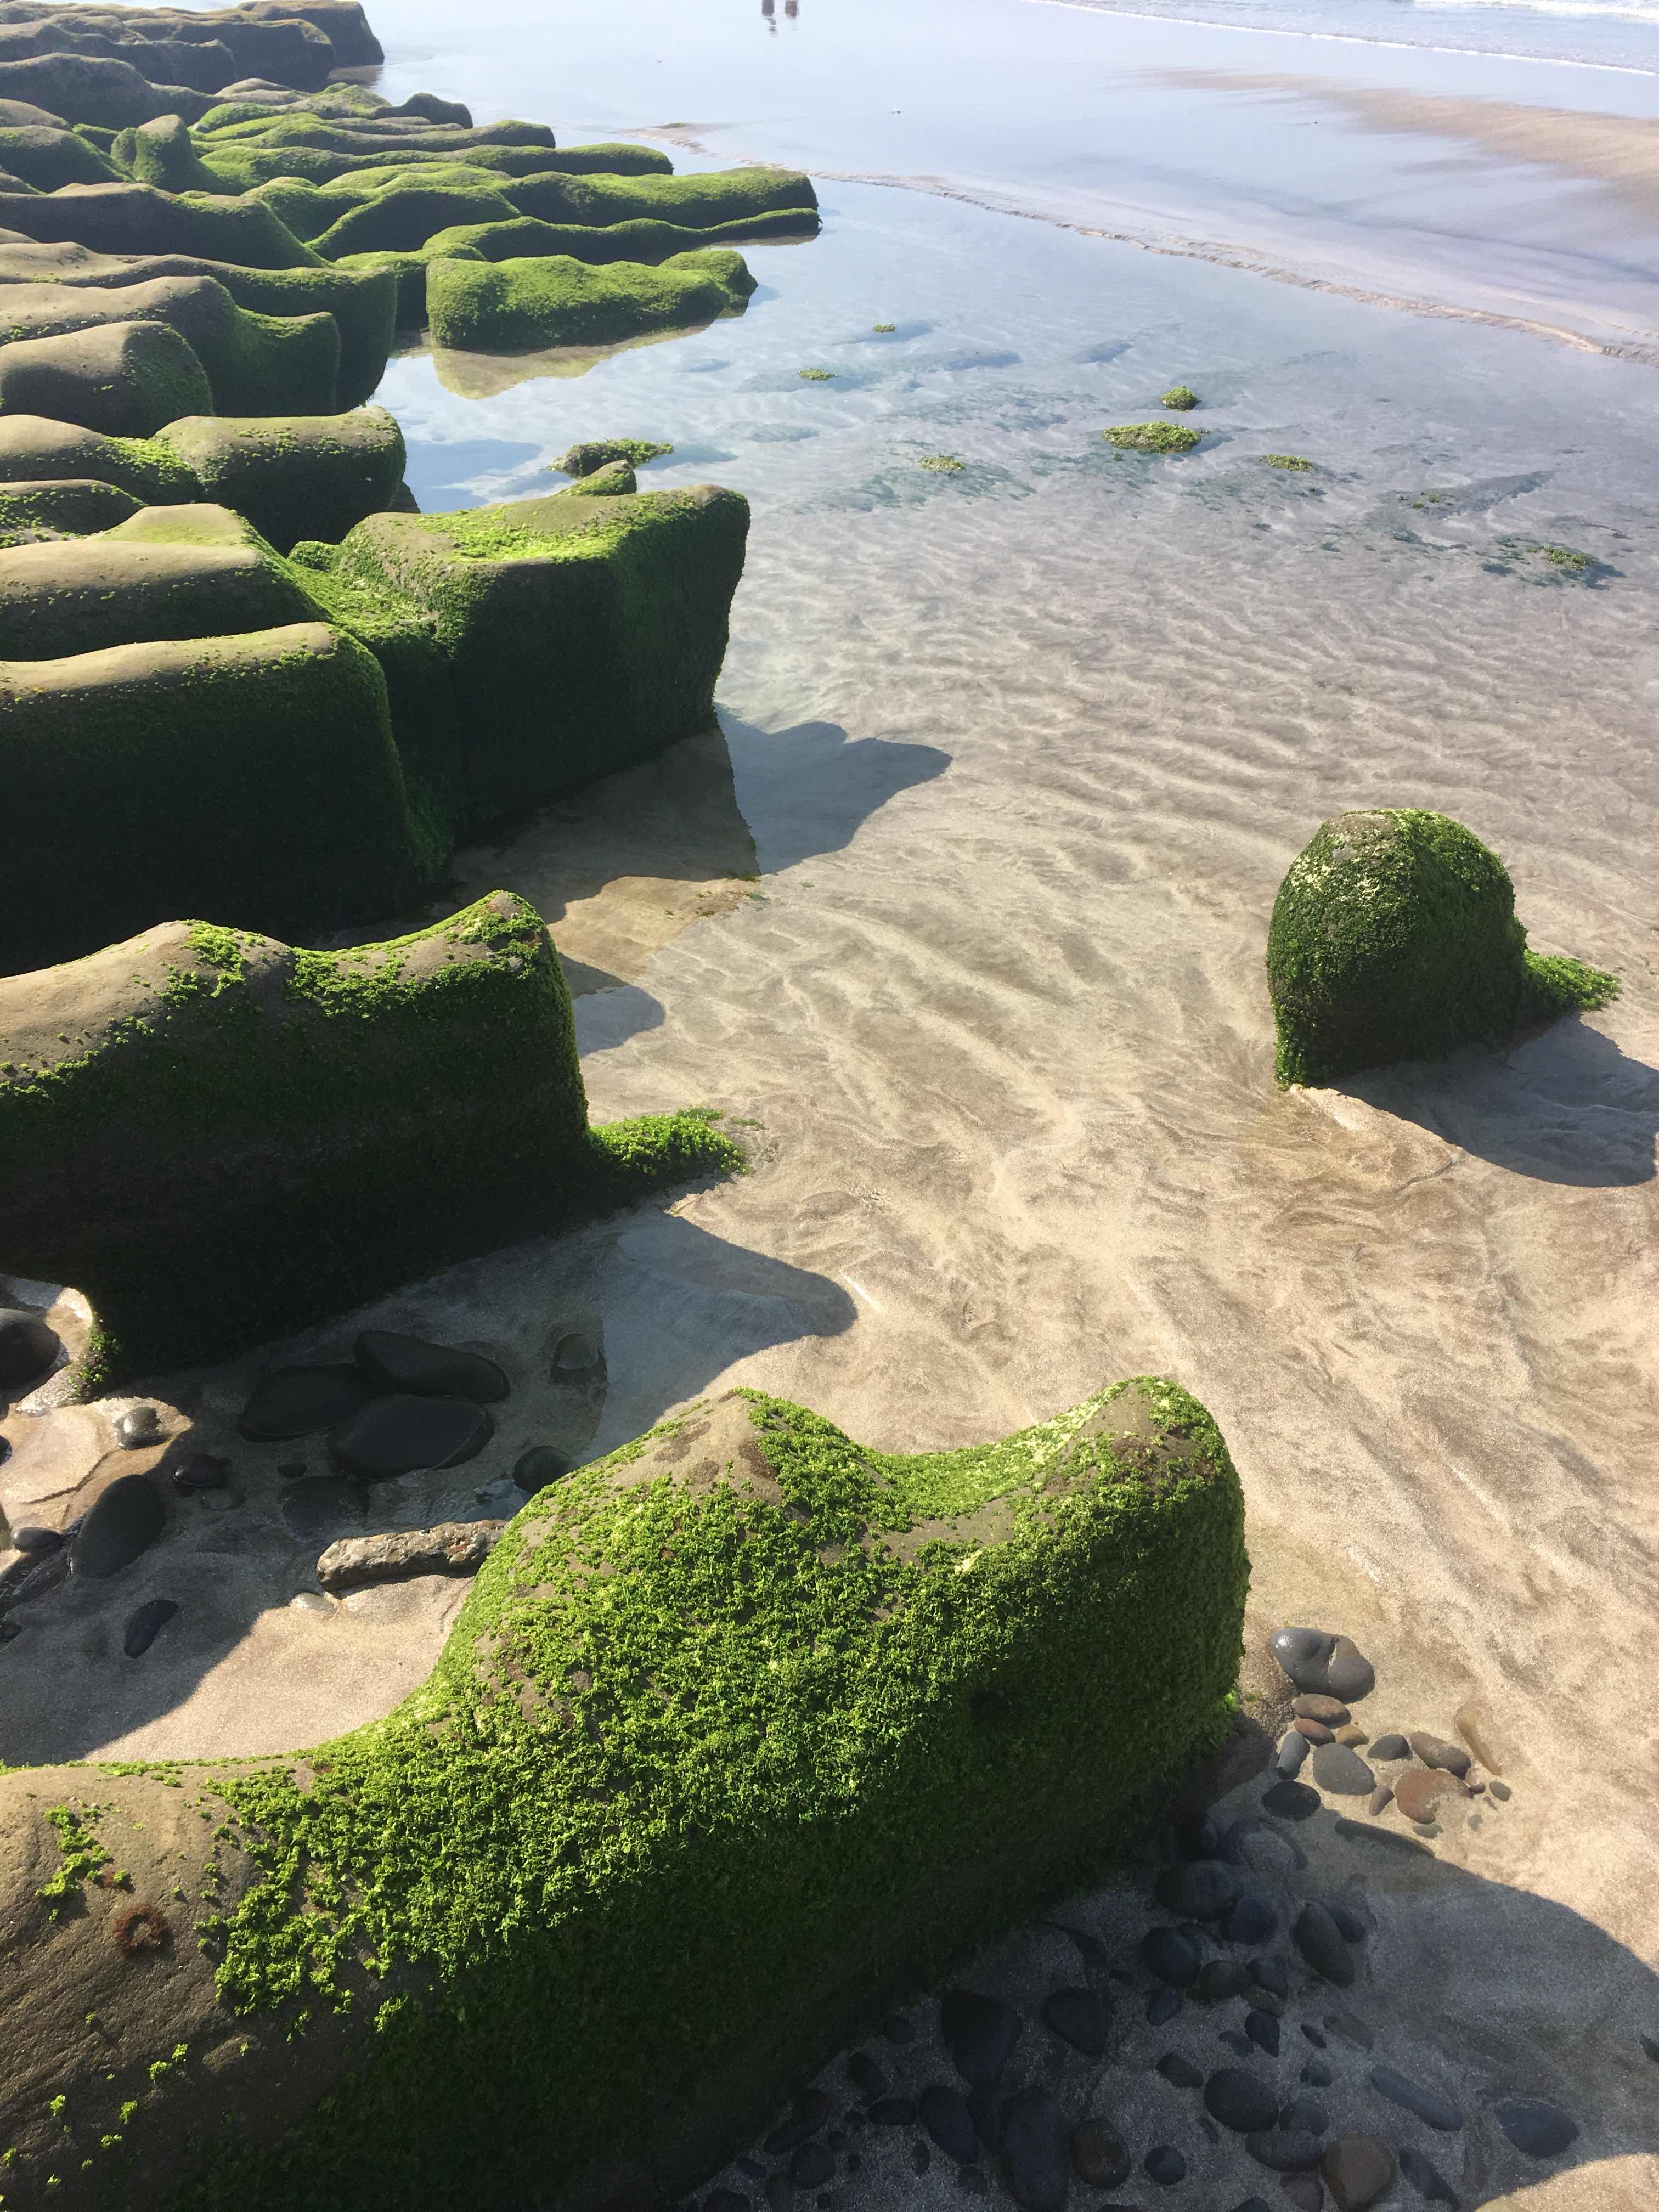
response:
<path fill-rule="evenodd" d="M 615 345 L 644 330 L 677 330 L 737 314 L 754 279 L 741 254 L 708 248 L 648 268 L 595 268 L 564 254 L 529 261 L 429 261 L 427 327 L 434 345 L 524 354 L 549 345 Z"/>

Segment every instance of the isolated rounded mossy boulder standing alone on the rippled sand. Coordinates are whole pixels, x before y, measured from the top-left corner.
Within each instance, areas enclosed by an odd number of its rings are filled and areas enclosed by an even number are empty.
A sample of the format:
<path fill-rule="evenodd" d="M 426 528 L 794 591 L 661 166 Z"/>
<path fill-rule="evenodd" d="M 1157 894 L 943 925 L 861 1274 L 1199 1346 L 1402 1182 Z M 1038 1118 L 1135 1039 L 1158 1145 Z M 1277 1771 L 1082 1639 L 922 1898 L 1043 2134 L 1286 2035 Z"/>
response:
<path fill-rule="evenodd" d="M 1515 887 L 1480 838 L 1420 807 L 1336 814 L 1290 863 L 1267 927 L 1281 1084 L 1506 1044 L 1606 1006 L 1615 975 L 1526 949 Z"/>

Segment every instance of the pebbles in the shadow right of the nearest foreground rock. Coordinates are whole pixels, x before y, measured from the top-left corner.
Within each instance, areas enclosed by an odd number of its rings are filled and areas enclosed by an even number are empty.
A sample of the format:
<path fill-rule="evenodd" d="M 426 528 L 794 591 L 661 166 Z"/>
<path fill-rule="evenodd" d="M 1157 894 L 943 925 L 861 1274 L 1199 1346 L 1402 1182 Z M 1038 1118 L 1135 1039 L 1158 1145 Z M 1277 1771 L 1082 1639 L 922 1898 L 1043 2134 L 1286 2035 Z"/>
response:
<path fill-rule="evenodd" d="M 1265 1787 L 1188 1814 L 1146 1878 L 889 2013 L 684 2212 L 922 2212 L 964 2194 L 1024 2212 L 1455 2212 L 1484 2201 L 1473 2168 L 1548 2172 L 1577 2121 L 1544 2097 L 1471 2093 L 1396 2026 L 1365 1880 L 1332 1882 L 1296 1840 L 1323 1805 L 1298 1781 L 1310 1759 L 1323 1790 L 1394 1805 L 1429 1836 L 1453 1792 L 1480 1794 L 1471 1754 L 1420 1732 L 1367 1739 L 1349 1708 L 1376 1677 L 1347 1637 L 1283 1628 L 1270 1648 L 1294 1723 Z M 1336 1814 L 1334 1834 L 1358 1838 L 1358 1823 Z M 1425 1843 L 1396 1832 L 1394 1849 Z"/>

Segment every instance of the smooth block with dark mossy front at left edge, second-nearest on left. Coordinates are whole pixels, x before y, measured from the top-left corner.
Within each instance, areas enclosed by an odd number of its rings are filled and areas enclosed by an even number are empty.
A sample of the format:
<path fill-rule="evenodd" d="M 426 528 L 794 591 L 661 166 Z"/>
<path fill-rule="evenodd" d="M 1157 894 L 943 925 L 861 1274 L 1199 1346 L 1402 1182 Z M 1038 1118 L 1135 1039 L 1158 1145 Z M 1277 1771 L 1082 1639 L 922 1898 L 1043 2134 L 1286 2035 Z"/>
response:
<path fill-rule="evenodd" d="M 0 557 L 29 551 L 60 549 Z M 281 931 L 387 914 L 425 874 L 380 668 L 323 622 L 7 661 L 0 787 L 0 969 L 190 907 Z"/>

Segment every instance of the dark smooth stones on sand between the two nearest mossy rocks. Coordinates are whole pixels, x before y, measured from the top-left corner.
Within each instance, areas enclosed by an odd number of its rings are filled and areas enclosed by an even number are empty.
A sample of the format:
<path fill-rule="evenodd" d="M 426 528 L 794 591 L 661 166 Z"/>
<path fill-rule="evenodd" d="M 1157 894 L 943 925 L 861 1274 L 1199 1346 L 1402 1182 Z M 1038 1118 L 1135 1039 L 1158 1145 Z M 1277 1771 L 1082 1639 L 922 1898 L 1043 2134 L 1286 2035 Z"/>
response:
<path fill-rule="evenodd" d="M 62 1345 L 44 1321 L 27 1312 L 0 1312 L 0 1389 L 27 1389 L 51 1374 L 60 1358 Z M 577 1334 L 564 1336 L 553 1354 L 557 1380 L 582 1383 L 597 1371 L 597 1363 L 599 1354 Z M 495 1431 L 487 1409 L 507 1396 L 507 1374 L 478 1352 L 392 1329 L 365 1329 L 352 1360 L 274 1367 L 261 1376 L 239 1429 L 252 1444 L 325 1438 L 327 1473 L 310 1473 L 305 1458 L 279 1462 L 283 1522 L 292 1537 L 307 1542 L 334 1528 L 343 1509 L 361 1511 L 372 1484 L 476 1458 Z M 164 1413 L 142 1400 L 117 1413 L 113 1427 L 117 1447 L 126 1451 L 155 1451 L 168 1442 Z M 538 1491 L 568 1469 L 571 1460 L 555 1447 L 531 1444 L 513 1467 L 513 1482 L 520 1491 Z M 197 1451 L 179 1458 L 170 1482 L 179 1498 L 223 1491 L 230 1460 Z M 46 1597 L 71 1575 L 93 1582 L 119 1575 L 155 1544 L 166 1524 L 159 1471 L 142 1471 L 104 1482 L 88 1509 L 60 1528 L 13 1528 L 11 1548 L 18 1559 L 0 1573 L 0 1644 L 24 1626 L 13 1617 L 15 1608 Z M 336 1542 L 319 1559 L 319 1582 L 325 1590 L 345 1593 L 407 1575 L 469 1575 L 484 1562 L 502 1526 L 442 1524 Z M 126 1621 L 126 1657 L 142 1657 L 177 1613 L 170 1597 L 144 1599 Z"/>

